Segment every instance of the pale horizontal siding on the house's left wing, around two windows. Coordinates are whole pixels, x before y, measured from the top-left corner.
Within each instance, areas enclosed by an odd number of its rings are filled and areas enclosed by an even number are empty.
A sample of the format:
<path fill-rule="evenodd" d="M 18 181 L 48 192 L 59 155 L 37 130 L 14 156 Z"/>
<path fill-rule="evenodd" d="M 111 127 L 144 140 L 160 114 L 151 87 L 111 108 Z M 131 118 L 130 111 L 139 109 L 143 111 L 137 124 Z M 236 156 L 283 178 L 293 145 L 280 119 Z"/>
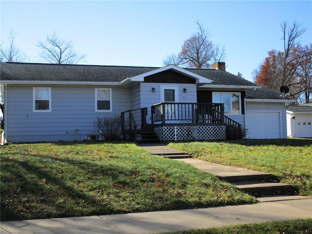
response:
<path fill-rule="evenodd" d="M 114 108 L 95 111 L 93 86 L 51 87 L 52 112 L 33 112 L 32 86 L 7 86 L 7 140 L 11 142 L 74 141 L 95 135 L 98 117 L 115 117 L 131 109 L 128 87 L 112 87 Z"/>

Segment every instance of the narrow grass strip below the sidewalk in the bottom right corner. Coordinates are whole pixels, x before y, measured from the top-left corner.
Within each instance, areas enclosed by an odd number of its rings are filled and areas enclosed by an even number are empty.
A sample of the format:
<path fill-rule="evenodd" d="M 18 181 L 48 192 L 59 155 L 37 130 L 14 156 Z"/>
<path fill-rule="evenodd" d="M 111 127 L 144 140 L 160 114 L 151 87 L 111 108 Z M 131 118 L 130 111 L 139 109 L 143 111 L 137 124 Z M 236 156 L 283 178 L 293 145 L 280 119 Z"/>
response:
<path fill-rule="evenodd" d="M 239 224 L 220 228 L 196 229 L 167 234 L 311 234 L 312 219 Z"/>

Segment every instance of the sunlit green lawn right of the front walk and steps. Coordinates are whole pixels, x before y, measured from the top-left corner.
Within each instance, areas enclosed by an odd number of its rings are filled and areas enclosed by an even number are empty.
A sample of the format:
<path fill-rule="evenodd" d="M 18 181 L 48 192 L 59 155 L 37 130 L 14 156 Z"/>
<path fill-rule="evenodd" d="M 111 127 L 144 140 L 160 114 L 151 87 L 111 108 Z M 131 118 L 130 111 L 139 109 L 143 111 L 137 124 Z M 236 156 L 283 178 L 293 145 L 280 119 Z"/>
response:
<path fill-rule="evenodd" d="M 169 143 L 201 160 L 268 172 L 312 195 L 312 139 Z"/>

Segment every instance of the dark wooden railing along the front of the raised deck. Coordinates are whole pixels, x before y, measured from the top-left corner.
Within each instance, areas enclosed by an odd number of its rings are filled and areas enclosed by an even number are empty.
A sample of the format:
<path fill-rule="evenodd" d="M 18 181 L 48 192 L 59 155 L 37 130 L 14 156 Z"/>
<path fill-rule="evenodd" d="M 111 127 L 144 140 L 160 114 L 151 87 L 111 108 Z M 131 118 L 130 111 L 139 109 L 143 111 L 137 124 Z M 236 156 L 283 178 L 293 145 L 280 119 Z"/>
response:
<path fill-rule="evenodd" d="M 224 124 L 223 103 L 162 102 L 152 105 L 151 123 L 154 124 Z"/>

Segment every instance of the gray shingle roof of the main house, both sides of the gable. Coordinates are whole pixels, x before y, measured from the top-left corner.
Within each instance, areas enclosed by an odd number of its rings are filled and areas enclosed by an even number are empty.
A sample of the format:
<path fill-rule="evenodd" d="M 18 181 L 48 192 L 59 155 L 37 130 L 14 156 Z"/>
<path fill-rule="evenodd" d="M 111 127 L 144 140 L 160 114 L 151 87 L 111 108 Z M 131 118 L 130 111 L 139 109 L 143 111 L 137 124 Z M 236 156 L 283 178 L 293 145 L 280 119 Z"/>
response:
<path fill-rule="evenodd" d="M 133 66 L 99 66 L 99 65 L 66 65 L 44 63 L 0 63 L 1 80 L 17 81 L 94 81 L 94 82 L 120 82 L 158 67 L 133 67 Z M 239 78 L 222 70 L 214 69 L 186 69 L 197 75 L 212 79 L 212 85 L 239 85 L 255 86 L 249 80 Z M 246 91 L 247 98 L 256 99 L 284 99 L 280 94 L 261 88 L 255 91 Z"/>

